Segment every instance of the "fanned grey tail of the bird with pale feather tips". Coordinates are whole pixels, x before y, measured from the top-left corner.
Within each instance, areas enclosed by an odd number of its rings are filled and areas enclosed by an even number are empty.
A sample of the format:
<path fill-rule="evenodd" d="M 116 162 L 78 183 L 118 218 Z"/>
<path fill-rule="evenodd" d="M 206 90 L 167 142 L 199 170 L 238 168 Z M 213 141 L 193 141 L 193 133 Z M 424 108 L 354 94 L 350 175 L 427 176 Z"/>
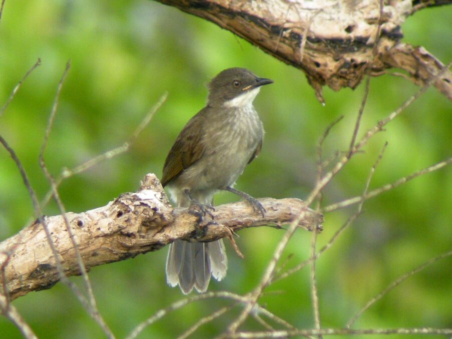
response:
<path fill-rule="evenodd" d="M 166 258 L 166 282 L 172 287 L 178 284 L 184 294 L 193 287 L 202 293 L 207 290 L 210 275 L 219 281 L 226 276 L 227 268 L 222 239 L 206 243 L 175 240 Z"/>

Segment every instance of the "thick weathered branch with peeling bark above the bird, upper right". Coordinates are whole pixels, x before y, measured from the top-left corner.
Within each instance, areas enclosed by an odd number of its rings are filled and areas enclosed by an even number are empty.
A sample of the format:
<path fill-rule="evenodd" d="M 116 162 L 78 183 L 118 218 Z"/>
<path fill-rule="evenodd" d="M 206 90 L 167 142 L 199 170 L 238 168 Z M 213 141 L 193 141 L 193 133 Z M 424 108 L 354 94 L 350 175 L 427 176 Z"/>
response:
<path fill-rule="evenodd" d="M 322 87 L 356 88 L 364 75 L 399 68 L 417 85 L 443 65 L 423 48 L 400 43 L 400 25 L 444 1 L 391 0 L 157 0 L 213 22 L 304 71 L 323 102 Z M 378 35 L 378 38 L 377 38 Z M 452 74 L 433 84 L 452 100 Z"/>

